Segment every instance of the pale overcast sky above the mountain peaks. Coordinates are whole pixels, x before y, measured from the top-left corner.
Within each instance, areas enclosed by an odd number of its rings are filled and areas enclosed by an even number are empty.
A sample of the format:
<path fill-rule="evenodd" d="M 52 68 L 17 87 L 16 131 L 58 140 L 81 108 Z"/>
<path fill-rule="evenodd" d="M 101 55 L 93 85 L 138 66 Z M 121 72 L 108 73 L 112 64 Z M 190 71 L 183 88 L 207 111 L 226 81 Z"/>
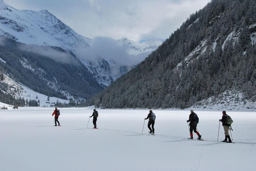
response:
<path fill-rule="evenodd" d="M 210 0 L 4 0 L 17 9 L 47 9 L 89 37 L 165 40 Z"/>

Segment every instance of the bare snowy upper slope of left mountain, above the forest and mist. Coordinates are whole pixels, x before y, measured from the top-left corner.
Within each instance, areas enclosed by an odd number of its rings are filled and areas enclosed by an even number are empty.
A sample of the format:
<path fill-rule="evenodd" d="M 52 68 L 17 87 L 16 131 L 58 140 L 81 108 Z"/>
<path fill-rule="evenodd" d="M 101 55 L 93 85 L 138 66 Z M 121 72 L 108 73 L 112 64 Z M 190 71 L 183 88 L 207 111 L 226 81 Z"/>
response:
<path fill-rule="evenodd" d="M 26 44 L 59 46 L 73 50 L 76 46 L 87 47 L 91 42 L 47 10 L 18 10 L 0 1 L 0 21 L 0 35 Z"/>

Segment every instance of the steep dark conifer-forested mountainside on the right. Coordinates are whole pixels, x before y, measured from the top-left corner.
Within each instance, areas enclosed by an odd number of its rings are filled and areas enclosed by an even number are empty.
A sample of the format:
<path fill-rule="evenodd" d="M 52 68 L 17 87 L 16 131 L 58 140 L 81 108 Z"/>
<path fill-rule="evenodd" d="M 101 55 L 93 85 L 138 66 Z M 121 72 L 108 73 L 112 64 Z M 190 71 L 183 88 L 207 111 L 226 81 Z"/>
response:
<path fill-rule="evenodd" d="M 255 0 L 212 0 L 87 106 L 183 109 L 232 89 L 255 101 L 255 11 Z"/>

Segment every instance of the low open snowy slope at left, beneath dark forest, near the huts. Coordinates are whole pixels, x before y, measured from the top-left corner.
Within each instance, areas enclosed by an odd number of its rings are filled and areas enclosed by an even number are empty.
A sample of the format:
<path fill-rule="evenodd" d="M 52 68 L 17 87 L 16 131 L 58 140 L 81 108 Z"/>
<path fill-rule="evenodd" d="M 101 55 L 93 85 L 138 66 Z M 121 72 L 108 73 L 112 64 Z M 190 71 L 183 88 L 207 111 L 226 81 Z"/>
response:
<path fill-rule="evenodd" d="M 50 106 L 51 103 L 57 101 L 61 102 L 61 103 L 69 103 L 69 100 L 64 100 L 64 99 L 59 99 L 57 97 L 50 97 L 50 101 L 47 101 L 47 97 L 46 95 L 44 94 L 41 94 L 41 93 L 38 93 L 32 89 L 30 89 L 29 87 L 21 84 L 21 83 L 16 83 L 14 82 L 10 77 L 8 77 L 7 75 L 3 74 L 4 75 L 4 80 L 2 81 L 3 83 L 6 83 L 9 87 L 8 87 L 8 91 L 7 93 L 12 93 L 15 95 L 16 98 L 23 98 L 26 100 L 26 99 L 31 99 L 31 100 L 38 100 L 40 101 L 40 106 Z M 0 90 L 2 91 L 2 90 Z M 69 98 L 72 98 L 74 99 L 72 96 L 69 96 L 68 93 L 67 94 L 67 97 L 68 99 Z M 38 99 L 36 99 L 36 96 L 38 97 Z M 0 102 L 1 102 L 1 99 L 0 99 Z M 48 102 L 48 103 L 46 103 Z"/>

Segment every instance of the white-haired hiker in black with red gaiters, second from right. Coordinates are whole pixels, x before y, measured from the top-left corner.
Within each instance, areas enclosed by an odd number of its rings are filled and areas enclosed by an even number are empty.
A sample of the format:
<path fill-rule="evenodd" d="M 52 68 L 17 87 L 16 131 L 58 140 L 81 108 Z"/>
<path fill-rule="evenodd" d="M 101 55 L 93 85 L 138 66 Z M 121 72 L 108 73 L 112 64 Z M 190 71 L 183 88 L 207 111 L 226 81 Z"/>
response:
<path fill-rule="evenodd" d="M 193 111 L 190 110 L 190 115 L 189 115 L 189 120 L 187 120 L 187 123 L 189 123 L 188 127 L 189 127 L 189 132 L 190 132 L 190 138 L 189 139 L 193 139 L 193 130 L 194 132 L 198 135 L 198 140 L 201 140 L 201 135 L 199 134 L 199 132 L 197 131 L 197 124 L 199 123 L 199 118 L 197 116 L 197 114 Z"/>

